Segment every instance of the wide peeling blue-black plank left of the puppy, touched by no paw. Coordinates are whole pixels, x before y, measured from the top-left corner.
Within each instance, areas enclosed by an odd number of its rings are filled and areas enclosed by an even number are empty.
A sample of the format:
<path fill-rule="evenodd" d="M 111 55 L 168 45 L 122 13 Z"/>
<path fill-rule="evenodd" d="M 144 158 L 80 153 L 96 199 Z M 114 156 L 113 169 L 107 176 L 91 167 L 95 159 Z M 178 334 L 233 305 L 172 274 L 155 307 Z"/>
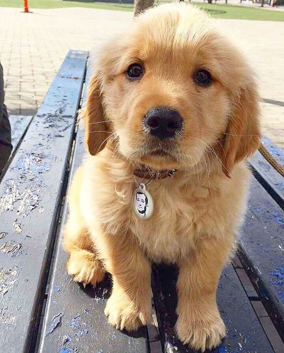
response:
<path fill-rule="evenodd" d="M 0 184 L 0 346 L 33 349 L 87 53 L 69 51 Z"/>

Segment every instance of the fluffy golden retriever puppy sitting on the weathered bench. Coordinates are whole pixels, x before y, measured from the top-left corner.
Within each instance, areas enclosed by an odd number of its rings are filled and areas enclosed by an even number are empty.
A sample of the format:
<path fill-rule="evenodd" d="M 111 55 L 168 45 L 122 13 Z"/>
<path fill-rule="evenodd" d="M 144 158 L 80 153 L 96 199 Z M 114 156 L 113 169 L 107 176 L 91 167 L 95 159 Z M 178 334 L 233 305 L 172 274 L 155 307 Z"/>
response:
<path fill-rule="evenodd" d="M 69 192 L 67 270 L 113 288 L 118 329 L 151 319 L 151 263 L 179 267 L 176 331 L 193 348 L 225 335 L 216 303 L 260 142 L 251 69 L 189 5 L 146 11 L 99 54 L 84 109 L 88 154 Z M 141 184 L 141 185 L 139 185 Z"/>

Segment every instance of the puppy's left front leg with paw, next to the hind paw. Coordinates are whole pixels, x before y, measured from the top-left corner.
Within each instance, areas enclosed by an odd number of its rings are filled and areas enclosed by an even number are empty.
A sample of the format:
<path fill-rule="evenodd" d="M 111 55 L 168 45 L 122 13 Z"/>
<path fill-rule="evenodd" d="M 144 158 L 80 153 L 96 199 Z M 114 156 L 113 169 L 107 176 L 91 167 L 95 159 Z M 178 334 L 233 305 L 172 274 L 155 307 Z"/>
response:
<path fill-rule="evenodd" d="M 113 280 L 105 314 L 116 328 L 134 331 L 151 320 L 151 265 L 130 236 L 105 241 L 105 267 Z"/>

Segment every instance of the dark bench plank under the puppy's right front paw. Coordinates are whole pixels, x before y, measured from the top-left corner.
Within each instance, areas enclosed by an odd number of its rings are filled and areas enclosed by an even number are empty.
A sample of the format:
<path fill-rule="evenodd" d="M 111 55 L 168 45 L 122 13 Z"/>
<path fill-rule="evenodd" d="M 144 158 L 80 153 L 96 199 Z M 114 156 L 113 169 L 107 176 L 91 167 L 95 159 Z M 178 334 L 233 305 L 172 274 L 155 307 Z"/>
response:
<path fill-rule="evenodd" d="M 197 353 L 183 345 L 174 330 L 177 295 L 177 270 L 172 266 L 153 269 L 153 292 L 162 345 L 165 353 Z M 217 302 L 227 327 L 227 338 L 211 353 L 273 353 L 273 349 L 230 264 L 223 271 L 218 286 Z"/>

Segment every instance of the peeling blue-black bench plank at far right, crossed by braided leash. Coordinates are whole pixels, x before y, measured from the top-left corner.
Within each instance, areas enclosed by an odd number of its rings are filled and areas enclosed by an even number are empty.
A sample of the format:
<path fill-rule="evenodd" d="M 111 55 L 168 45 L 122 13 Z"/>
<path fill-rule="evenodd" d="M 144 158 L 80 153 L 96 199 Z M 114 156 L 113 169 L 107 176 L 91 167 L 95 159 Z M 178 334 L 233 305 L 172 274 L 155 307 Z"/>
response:
<path fill-rule="evenodd" d="M 284 166 L 283 151 L 273 145 L 269 138 L 263 136 L 264 146 L 272 154 L 274 158 Z M 279 206 L 284 209 L 284 180 L 281 175 L 262 157 L 257 151 L 249 159 L 252 171 L 256 179 L 267 190 L 267 192 L 274 198 Z"/>

